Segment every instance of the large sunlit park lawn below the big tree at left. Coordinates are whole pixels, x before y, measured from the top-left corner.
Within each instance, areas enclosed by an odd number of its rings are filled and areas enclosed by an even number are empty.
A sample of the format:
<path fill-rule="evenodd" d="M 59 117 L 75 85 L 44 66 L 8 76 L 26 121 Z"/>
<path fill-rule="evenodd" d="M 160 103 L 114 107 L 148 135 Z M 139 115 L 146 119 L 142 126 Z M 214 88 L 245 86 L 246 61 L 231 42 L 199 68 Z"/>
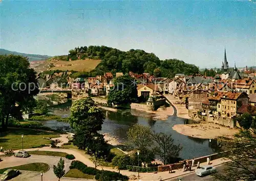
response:
<path fill-rule="evenodd" d="M 4 149 L 22 149 L 22 135 L 24 149 L 32 148 L 32 146 L 40 146 L 42 144 L 50 144 L 50 140 L 44 137 L 57 138 L 60 135 L 53 131 L 34 130 L 29 128 L 8 128 L 8 131 L 0 137 L 0 147 Z"/>

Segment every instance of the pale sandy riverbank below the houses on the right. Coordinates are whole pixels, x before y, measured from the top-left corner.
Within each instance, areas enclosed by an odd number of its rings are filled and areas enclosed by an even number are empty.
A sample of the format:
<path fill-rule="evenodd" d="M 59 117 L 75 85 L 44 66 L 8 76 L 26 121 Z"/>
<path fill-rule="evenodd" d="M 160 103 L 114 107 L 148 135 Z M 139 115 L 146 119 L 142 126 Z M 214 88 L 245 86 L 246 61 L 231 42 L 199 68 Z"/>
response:
<path fill-rule="evenodd" d="M 195 138 L 214 139 L 217 137 L 233 137 L 238 133 L 237 128 L 228 128 L 214 123 L 200 123 L 200 124 L 176 124 L 173 126 L 176 132 Z"/>

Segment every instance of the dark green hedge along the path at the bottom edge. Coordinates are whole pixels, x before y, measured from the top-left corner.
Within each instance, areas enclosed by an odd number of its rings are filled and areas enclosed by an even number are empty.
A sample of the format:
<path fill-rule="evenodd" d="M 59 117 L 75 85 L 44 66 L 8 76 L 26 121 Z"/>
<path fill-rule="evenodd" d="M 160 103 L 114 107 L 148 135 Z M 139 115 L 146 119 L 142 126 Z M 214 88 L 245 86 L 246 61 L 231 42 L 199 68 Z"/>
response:
<path fill-rule="evenodd" d="M 95 179 L 99 180 L 100 178 L 103 178 L 104 181 L 108 180 L 128 180 L 129 177 L 126 175 L 119 174 L 117 172 L 107 171 L 107 170 L 95 170 L 93 167 L 88 167 L 84 163 L 80 161 L 72 161 L 71 165 L 69 167 L 70 169 L 76 168 L 80 170 L 83 173 L 89 174 L 89 175 L 95 175 Z"/>

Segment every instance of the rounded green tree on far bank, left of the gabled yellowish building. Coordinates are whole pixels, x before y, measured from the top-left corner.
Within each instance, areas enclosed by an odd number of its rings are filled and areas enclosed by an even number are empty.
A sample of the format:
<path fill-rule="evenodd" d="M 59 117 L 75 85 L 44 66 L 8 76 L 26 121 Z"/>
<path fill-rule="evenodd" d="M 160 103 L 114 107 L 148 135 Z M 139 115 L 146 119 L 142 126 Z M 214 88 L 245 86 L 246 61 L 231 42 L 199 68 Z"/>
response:
<path fill-rule="evenodd" d="M 118 76 L 114 79 L 114 89 L 109 92 L 109 105 L 123 105 L 138 99 L 136 81 L 129 75 Z"/>

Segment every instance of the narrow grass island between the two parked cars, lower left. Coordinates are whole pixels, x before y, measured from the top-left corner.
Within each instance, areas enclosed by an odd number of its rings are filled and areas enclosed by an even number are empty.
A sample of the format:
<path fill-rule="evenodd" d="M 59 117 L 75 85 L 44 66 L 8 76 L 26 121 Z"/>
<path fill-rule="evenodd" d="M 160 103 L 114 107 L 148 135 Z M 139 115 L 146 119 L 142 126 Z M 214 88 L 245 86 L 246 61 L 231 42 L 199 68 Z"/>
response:
<path fill-rule="evenodd" d="M 9 167 L 0 169 L 0 173 L 4 173 L 4 171 L 8 169 L 17 169 L 17 170 L 28 170 L 28 171 L 37 171 L 37 172 L 46 172 L 49 169 L 49 165 L 46 163 L 30 163 L 25 165 L 19 165 L 16 167 Z"/>

